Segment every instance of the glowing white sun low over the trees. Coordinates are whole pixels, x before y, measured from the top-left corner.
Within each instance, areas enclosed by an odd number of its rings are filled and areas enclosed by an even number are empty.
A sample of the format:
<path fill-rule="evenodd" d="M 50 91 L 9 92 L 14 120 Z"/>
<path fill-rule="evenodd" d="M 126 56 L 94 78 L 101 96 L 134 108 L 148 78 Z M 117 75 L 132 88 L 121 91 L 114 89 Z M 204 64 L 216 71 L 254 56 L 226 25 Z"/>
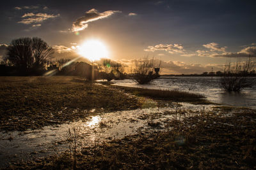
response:
<path fill-rule="evenodd" d="M 79 47 L 78 53 L 91 61 L 108 58 L 106 45 L 98 39 L 88 39 Z"/>

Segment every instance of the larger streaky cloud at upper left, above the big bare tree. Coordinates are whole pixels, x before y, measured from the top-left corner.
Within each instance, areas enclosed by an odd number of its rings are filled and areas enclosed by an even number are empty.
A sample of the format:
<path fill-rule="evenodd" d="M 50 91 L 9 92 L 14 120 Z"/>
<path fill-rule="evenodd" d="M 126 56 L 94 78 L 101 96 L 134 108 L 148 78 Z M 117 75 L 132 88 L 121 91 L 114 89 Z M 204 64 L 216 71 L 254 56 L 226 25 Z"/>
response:
<path fill-rule="evenodd" d="M 36 24 L 48 20 L 49 18 L 60 17 L 60 14 L 47 14 L 47 13 L 25 13 L 21 18 L 23 18 L 18 23 L 22 24 Z"/>

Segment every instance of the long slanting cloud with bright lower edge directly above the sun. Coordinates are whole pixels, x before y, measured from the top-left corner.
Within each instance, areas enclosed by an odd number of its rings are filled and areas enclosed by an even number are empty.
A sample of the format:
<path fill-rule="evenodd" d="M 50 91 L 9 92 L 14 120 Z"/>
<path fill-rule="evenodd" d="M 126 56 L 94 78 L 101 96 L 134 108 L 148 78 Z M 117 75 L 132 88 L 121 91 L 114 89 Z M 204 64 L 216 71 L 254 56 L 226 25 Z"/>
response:
<path fill-rule="evenodd" d="M 75 22 L 73 22 L 72 25 L 72 32 L 75 31 L 82 31 L 88 27 L 89 22 L 93 22 L 95 20 L 100 20 L 103 18 L 107 18 L 114 13 L 120 13 L 121 11 L 104 11 L 102 13 L 99 13 L 94 8 L 92 10 L 86 11 L 85 15 L 83 17 L 77 18 Z"/>

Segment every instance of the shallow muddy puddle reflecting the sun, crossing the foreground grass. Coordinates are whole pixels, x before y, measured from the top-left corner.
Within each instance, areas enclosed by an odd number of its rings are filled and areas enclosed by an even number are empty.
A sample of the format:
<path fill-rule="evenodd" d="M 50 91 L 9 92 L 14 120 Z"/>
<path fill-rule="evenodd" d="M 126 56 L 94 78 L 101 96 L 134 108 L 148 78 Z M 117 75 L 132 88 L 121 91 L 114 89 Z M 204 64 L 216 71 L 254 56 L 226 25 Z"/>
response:
<path fill-rule="evenodd" d="M 24 132 L 0 132 L 0 167 L 9 162 L 40 158 L 68 150 L 68 131 L 76 129 L 78 149 L 90 147 L 95 143 L 121 139 L 125 136 L 150 133 L 152 131 L 168 131 L 168 122 L 173 118 L 182 119 L 193 116 L 195 111 L 209 111 L 212 105 L 177 104 L 166 108 L 147 108 L 139 110 L 116 111 L 88 117 L 78 122 L 45 126 L 40 130 Z M 192 111 L 194 113 L 192 113 Z M 182 112 L 179 116 L 169 114 Z"/>

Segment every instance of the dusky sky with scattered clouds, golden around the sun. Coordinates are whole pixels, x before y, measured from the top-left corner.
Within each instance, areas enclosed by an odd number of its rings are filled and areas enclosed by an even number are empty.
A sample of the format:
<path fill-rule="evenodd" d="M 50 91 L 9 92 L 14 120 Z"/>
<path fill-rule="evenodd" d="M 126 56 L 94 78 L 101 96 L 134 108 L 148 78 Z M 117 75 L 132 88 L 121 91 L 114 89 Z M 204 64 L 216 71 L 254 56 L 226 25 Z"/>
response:
<path fill-rule="evenodd" d="M 12 39 L 39 37 L 55 59 L 74 58 L 88 39 L 109 58 L 162 60 L 161 73 L 221 70 L 256 58 L 256 1 L 1 1 L 0 58 Z"/>

